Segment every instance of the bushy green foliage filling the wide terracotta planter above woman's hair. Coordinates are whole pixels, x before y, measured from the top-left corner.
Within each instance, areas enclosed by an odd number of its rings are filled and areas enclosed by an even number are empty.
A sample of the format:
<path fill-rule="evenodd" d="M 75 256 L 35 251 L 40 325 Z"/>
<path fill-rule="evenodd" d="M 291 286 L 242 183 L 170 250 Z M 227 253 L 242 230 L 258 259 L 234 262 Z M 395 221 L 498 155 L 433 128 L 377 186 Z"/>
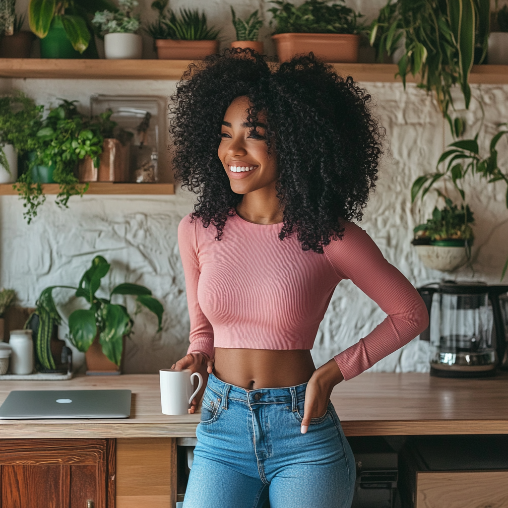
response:
<path fill-rule="evenodd" d="M 343 2 L 344 0 L 341 0 Z M 342 4 L 324 0 L 307 0 L 299 7 L 284 0 L 273 0 L 277 7 L 268 9 L 275 22 L 275 34 L 360 34 L 365 25 L 359 22 L 362 14 Z"/>

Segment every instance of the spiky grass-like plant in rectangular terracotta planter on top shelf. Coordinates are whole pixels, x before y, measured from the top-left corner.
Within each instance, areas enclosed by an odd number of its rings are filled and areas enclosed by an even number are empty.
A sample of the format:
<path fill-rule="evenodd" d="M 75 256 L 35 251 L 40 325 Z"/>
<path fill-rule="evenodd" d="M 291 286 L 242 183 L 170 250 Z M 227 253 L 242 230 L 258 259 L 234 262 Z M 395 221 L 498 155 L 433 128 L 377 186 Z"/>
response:
<path fill-rule="evenodd" d="M 152 3 L 158 18 L 146 30 L 155 41 L 158 58 L 196 60 L 218 51 L 220 30 L 208 27 L 204 12 L 180 9 L 177 16 L 171 9 L 166 11 L 167 6 L 168 0 Z"/>

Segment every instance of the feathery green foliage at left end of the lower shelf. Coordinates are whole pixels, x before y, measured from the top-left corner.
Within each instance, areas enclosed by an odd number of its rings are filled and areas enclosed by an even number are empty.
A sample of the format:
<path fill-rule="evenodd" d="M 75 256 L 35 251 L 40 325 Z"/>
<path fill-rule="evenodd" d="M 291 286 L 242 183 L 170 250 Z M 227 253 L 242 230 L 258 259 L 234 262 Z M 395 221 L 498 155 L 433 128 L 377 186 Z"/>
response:
<path fill-rule="evenodd" d="M 37 149 L 43 109 L 20 91 L 0 96 L 0 164 L 7 171 L 9 164 L 2 147 L 13 145 L 19 154 Z"/>

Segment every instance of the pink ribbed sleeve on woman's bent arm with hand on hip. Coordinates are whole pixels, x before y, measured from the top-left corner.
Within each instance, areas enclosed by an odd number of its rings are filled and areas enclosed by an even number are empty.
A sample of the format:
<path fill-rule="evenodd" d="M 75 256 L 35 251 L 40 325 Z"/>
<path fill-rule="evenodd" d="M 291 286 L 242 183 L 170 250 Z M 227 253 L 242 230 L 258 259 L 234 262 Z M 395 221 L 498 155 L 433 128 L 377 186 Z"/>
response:
<path fill-rule="evenodd" d="M 412 284 L 383 257 L 360 227 L 345 223 L 342 240 L 325 255 L 337 275 L 350 279 L 388 316 L 371 333 L 334 357 L 344 379 L 351 379 L 398 350 L 428 326 L 425 304 Z"/>

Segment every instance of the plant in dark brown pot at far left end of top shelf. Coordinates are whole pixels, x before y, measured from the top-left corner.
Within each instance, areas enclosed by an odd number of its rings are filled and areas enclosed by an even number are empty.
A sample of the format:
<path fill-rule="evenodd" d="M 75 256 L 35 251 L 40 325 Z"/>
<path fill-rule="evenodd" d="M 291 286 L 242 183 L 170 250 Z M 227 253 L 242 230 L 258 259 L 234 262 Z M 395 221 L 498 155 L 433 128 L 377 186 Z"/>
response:
<path fill-rule="evenodd" d="M 35 39 L 30 31 L 22 30 L 24 16 L 16 14 L 16 0 L 0 3 L 0 58 L 29 58 Z"/>

